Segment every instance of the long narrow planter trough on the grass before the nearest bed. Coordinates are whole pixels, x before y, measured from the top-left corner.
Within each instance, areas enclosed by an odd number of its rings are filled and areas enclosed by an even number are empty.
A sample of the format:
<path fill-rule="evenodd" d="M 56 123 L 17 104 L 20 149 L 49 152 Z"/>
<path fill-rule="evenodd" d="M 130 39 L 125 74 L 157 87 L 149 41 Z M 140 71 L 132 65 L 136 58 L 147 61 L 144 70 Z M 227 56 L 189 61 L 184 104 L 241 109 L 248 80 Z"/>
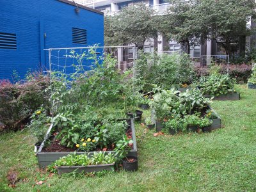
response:
<path fill-rule="evenodd" d="M 97 165 L 89 165 L 89 166 L 57 166 L 58 174 L 61 175 L 63 173 L 92 173 L 92 172 L 101 172 L 103 170 L 114 170 L 115 163 L 112 164 L 97 164 Z"/>

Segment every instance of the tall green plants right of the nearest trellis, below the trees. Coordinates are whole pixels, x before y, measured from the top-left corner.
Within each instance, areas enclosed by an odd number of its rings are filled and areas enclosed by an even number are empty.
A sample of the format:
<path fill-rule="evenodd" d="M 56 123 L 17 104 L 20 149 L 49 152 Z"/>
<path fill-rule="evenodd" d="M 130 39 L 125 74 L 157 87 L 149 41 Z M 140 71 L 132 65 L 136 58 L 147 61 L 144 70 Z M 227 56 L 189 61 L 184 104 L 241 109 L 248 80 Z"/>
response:
<path fill-rule="evenodd" d="M 136 61 L 137 86 L 144 92 L 152 91 L 154 84 L 164 89 L 180 83 L 191 83 L 193 64 L 186 54 L 142 54 Z"/>

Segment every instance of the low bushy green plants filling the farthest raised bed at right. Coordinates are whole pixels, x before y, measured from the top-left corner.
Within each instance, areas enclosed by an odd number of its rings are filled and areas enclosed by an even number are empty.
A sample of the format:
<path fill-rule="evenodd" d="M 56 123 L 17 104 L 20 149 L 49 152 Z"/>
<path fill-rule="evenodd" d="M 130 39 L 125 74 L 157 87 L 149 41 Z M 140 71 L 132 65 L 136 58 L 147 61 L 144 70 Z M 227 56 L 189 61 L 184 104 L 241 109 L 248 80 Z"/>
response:
<path fill-rule="evenodd" d="M 211 95 L 212 97 L 234 92 L 235 79 L 222 74 L 212 74 L 209 77 L 200 77 L 198 86 L 203 95 Z"/>

